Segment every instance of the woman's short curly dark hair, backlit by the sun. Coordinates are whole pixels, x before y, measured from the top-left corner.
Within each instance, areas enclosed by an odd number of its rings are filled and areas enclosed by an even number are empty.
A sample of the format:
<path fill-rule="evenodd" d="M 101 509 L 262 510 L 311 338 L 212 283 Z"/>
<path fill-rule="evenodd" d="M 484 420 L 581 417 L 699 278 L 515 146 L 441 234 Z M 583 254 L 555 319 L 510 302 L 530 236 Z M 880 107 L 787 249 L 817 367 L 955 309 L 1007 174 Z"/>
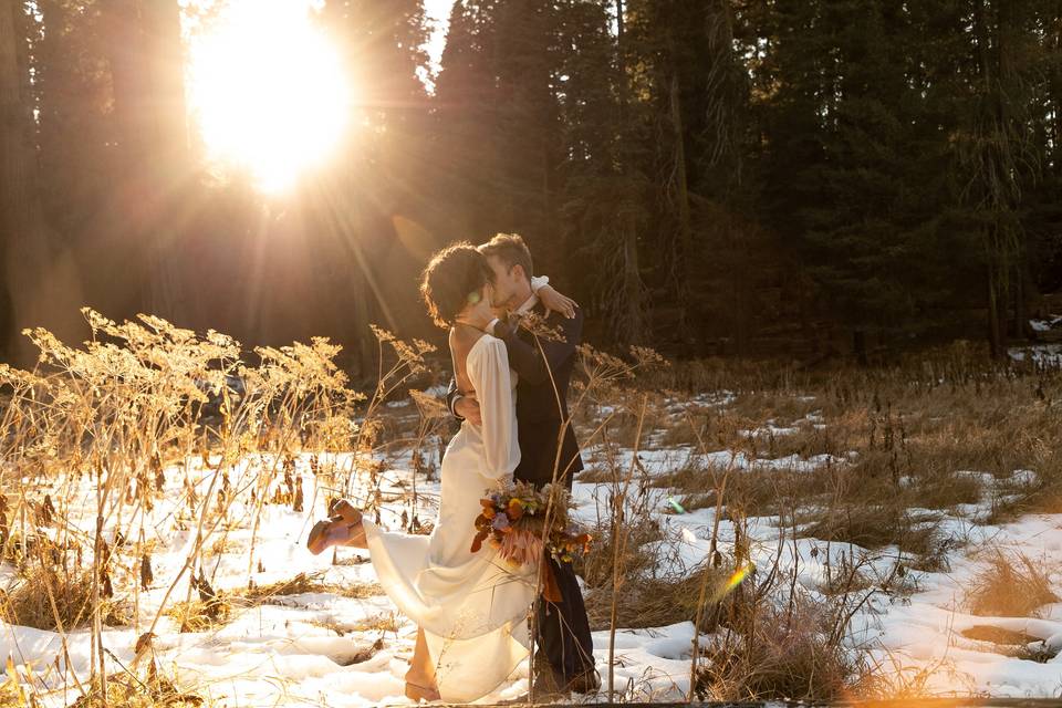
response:
<path fill-rule="evenodd" d="M 431 257 L 420 274 L 420 294 L 431 320 L 442 329 L 475 300 L 483 285 L 493 280 L 487 258 L 468 241 L 450 243 Z"/>

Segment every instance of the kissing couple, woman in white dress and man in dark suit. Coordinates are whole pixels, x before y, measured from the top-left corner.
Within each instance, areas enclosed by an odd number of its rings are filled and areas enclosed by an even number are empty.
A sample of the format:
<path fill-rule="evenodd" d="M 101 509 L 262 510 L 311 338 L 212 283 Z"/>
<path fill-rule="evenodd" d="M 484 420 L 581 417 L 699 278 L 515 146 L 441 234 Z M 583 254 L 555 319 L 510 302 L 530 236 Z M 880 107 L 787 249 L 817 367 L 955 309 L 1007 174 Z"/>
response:
<path fill-rule="evenodd" d="M 497 548 L 473 543 L 485 493 L 514 482 L 571 490 L 583 469 L 566 403 L 582 310 L 532 273 L 527 244 L 507 233 L 478 248 L 454 243 L 423 273 L 428 313 L 449 331 L 447 404 L 461 421 L 442 456 L 430 535 L 382 529 L 341 500 L 308 541 L 314 553 L 335 544 L 368 550 L 385 592 L 418 625 L 405 677 L 414 700 L 467 702 L 497 689 L 530 654 L 532 612 L 531 697 L 592 693 L 601 685 L 571 562 L 544 552 L 514 568 Z M 560 336 L 525 326 L 539 317 Z M 543 576 L 549 591 L 540 594 Z"/>

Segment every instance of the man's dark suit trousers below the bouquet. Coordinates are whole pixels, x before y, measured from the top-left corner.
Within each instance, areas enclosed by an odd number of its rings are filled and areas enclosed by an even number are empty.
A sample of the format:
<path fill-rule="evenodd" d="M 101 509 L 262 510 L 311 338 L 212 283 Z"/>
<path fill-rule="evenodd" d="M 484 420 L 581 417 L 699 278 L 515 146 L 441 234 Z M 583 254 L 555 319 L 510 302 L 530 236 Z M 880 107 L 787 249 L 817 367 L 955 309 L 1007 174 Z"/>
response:
<path fill-rule="evenodd" d="M 590 636 L 586 606 L 579 591 L 575 570 L 571 563 L 558 563 L 548 559 L 553 568 L 562 602 L 554 604 L 539 597 L 535 618 L 539 649 L 535 662 L 545 659 L 558 677 L 570 681 L 573 677 L 594 667 L 594 643 Z"/>

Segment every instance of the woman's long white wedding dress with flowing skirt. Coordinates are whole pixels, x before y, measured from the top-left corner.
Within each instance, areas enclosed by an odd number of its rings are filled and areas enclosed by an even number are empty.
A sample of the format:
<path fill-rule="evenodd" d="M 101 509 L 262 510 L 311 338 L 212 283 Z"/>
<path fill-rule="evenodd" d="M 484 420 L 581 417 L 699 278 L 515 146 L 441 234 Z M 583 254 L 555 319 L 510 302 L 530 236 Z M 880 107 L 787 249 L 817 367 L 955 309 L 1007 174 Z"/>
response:
<path fill-rule="evenodd" d="M 431 535 L 385 531 L 364 519 L 384 591 L 425 632 L 442 700 L 476 700 L 527 658 L 538 568 L 511 569 L 483 543 L 471 552 L 479 500 L 512 479 L 520 462 L 517 375 L 506 343 L 491 335 L 468 353 L 482 426 L 461 424 L 442 457 L 439 514 Z"/>

